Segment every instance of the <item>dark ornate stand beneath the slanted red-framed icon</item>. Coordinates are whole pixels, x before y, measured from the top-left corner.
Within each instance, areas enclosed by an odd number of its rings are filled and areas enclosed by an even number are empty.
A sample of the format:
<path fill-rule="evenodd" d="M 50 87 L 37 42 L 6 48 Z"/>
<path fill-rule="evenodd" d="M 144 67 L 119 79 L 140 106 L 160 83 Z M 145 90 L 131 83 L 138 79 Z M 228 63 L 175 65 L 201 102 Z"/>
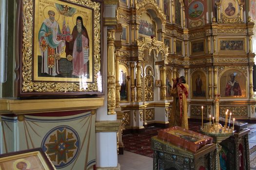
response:
<path fill-rule="evenodd" d="M 151 138 L 153 157 L 153 170 L 206 170 L 214 169 L 214 151 L 216 144 L 209 144 L 196 153 L 184 150 L 158 136 Z"/>

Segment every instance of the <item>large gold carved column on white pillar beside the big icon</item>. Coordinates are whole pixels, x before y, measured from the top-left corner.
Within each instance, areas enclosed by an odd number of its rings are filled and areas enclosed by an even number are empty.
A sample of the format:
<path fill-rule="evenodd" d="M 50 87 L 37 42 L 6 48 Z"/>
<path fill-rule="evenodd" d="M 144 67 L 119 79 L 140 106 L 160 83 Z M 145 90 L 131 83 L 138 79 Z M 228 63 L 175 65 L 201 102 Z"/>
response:
<path fill-rule="evenodd" d="M 116 92 L 115 92 L 115 30 L 108 30 L 107 35 L 107 102 L 108 115 L 116 114 Z"/>

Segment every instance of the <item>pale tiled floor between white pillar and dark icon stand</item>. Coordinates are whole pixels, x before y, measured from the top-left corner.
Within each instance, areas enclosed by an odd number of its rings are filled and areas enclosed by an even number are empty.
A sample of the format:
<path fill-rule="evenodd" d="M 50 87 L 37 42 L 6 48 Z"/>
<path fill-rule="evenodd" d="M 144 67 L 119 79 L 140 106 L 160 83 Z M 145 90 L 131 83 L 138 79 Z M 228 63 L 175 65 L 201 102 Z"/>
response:
<path fill-rule="evenodd" d="M 124 151 L 118 155 L 121 170 L 153 170 L 153 158 Z"/>

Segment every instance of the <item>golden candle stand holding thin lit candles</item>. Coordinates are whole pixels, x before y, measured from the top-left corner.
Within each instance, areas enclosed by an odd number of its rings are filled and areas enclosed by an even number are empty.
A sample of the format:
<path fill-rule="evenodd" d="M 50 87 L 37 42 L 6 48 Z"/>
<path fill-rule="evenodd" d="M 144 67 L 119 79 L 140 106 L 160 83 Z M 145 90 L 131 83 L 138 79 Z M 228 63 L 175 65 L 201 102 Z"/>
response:
<path fill-rule="evenodd" d="M 221 145 L 219 143 L 226 138 L 234 135 L 234 127 L 223 127 L 219 123 L 219 96 L 220 95 L 215 95 L 214 97 L 216 122 L 201 127 L 201 132 L 207 136 L 213 137 L 214 143 L 217 144 L 217 152 L 215 156 L 215 170 L 220 170 L 219 151 L 221 150 Z"/>

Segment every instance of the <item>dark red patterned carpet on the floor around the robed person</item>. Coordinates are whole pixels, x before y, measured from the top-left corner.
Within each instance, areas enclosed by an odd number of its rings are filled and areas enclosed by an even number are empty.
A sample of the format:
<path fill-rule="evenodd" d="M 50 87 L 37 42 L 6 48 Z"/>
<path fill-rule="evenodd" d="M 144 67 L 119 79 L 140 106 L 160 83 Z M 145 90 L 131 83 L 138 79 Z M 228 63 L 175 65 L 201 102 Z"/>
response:
<path fill-rule="evenodd" d="M 144 156 L 153 157 L 153 150 L 151 150 L 151 137 L 158 135 L 159 127 L 149 127 L 145 129 L 143 134 L 129 134 L 123 135 L 122 141 L 124 150 L 132 153 L 138 153 Z M 200 123 L 189 123 L 189 130 L 199 132 Z"/>

